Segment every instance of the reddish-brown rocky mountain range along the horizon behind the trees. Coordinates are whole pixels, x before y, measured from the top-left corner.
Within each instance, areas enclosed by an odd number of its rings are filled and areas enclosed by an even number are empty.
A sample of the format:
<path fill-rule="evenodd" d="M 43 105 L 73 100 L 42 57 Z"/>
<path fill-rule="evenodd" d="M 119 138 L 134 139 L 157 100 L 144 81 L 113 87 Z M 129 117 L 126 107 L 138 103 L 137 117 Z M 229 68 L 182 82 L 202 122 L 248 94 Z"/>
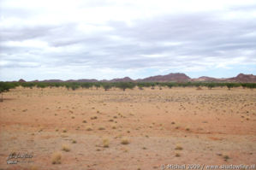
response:
<path fill-rule="evenodd" d="M 240 73 L 233 78 L 216 79 L 211 77 L 199 77 L 197 79 L 191 79 L 185 73 L 169 73 L 167 75 L 156 75 L 145 79 L 130 79 L 124 77 L 122 79 L 110 79 L 110 80 L 98 80 L 98 79 L 68 79 L 63 81 L 61 79 L 46 79 L 43 81 L 33 80 L 30 82 L 241 82 L 241 83 L 256 83 L 256 75 Z M 24 79 L 20 79 L 19 82 L 26 82 Z"/>

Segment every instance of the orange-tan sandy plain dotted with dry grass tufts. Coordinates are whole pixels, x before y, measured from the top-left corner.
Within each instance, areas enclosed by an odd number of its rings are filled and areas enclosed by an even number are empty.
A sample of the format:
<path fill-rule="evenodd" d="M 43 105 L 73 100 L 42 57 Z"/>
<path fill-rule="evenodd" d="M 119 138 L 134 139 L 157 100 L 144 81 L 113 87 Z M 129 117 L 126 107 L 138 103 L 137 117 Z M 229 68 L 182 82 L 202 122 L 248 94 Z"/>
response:
<path fill-rule="evenodd" d="M 22 88 L 0 103 L 0 169 L 256 163 L 256 91 Z M 10 154 L 32 158 L 8 164 Z M 23 161 L 23 162 L 22 162 Z M 204 167 L 205 168 L 205 167 Z"/>

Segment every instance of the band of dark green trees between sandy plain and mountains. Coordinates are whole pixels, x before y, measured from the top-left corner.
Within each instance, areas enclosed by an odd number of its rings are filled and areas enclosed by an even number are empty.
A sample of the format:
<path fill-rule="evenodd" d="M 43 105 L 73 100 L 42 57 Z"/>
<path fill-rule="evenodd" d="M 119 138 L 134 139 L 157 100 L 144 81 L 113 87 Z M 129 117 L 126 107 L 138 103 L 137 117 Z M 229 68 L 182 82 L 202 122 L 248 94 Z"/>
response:
<path fill-rule="evenodd" d="M 212 89 L 214 87 L 224 87 L 226 86 L 229 90 L 233 87 L 243 87 L 243 88 L 256 88 L 256 83 L 217 83 L 217 82 L 0 82 L 0 91 L 9 91 L 17 86 L 22 86 L 24 88 L 45 88 L 45 87 L 66 87 L 68 90 L 75 91 L 78 88 L 89 89 L 92 87 L 95 88 L 104 88 L 105 91 L 110 90 L 111 88 L 119 88 L 122 91 L 126 89 L 134 89 L 135 86 L 138 86 L 141 90 L 144 87 L 207 87 Z"/>

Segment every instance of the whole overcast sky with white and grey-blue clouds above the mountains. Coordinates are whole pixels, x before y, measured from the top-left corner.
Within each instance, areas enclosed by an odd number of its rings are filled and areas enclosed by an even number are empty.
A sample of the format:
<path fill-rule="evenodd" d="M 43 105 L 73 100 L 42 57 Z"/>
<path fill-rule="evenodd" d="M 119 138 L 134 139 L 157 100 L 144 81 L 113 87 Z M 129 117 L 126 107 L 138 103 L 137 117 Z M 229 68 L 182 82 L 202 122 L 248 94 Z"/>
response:
<path fill-rule="evenodd" d="M 0 80 L 167 73 L 256 74 L 256 1 L 0 1 Z"/>

